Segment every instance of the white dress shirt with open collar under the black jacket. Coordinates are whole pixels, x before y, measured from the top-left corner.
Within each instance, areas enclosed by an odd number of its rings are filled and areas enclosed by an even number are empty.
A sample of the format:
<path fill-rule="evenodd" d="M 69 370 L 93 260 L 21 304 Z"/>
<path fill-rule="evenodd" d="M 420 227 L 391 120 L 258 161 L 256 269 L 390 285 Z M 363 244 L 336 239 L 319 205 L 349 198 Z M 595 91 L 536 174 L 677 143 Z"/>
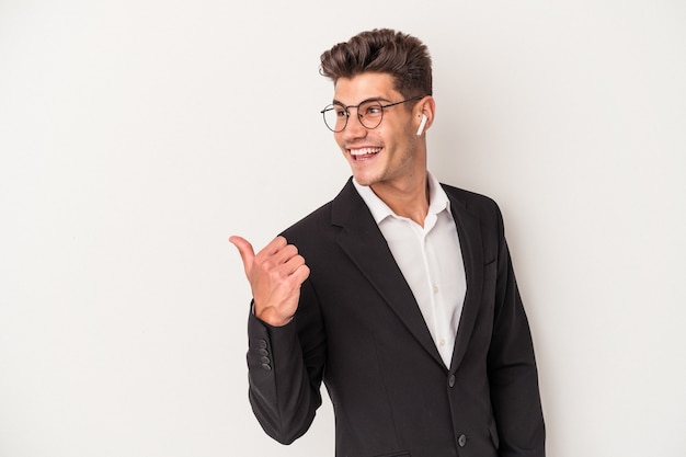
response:
<path fill-rule="evenodd" d="M 386 238 L 438 353 L 449 367 L 467 281 L 450 202 L 431 173 L 427 180 L 428 212 L 424 227 L 395 214 L 370 187 L 354 179 L 353 184 Z"/>

